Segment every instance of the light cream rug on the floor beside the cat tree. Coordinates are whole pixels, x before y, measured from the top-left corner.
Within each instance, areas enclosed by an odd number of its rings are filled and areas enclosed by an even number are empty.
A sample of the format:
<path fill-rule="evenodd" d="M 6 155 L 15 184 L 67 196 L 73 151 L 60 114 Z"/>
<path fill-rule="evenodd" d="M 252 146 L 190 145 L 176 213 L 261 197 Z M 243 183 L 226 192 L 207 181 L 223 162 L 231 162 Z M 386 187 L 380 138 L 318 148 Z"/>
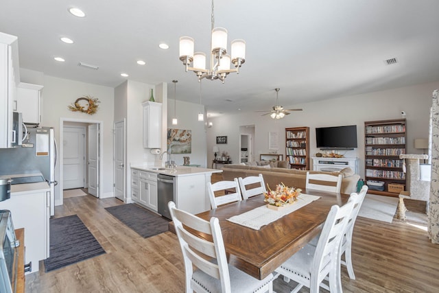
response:
<path fill-rule="evenodd" d="M 396 207 L 398 207 L 398 200 L 398 198 L 390 196 L 366 194 L 358 215 L 372 220 L 392 223 Z"/>

